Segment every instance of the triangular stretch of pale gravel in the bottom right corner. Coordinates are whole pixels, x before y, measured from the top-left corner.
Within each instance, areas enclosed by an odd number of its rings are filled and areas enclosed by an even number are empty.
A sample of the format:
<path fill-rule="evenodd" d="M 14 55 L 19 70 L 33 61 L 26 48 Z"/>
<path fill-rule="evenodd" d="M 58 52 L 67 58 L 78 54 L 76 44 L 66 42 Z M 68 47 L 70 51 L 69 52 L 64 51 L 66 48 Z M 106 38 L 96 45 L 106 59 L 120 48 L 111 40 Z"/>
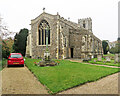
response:
<path fill-rule="evenodd" d="M 59 94 L 118 94 L 118 73 L 68 89 Z"/>

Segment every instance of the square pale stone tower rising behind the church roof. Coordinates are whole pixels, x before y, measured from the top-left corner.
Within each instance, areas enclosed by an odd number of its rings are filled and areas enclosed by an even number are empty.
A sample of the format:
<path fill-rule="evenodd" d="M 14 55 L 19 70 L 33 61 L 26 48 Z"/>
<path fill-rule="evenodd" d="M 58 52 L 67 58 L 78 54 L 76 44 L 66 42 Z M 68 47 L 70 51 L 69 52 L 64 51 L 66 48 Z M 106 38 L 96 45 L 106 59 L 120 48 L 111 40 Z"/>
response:
<path fill-rule="evenodd" d="M 78 24 L 80 25 L 80 27 L 89 30 L 89 32 L 92 32 L 92 19 L 90 17 L 78 19 Z"/>

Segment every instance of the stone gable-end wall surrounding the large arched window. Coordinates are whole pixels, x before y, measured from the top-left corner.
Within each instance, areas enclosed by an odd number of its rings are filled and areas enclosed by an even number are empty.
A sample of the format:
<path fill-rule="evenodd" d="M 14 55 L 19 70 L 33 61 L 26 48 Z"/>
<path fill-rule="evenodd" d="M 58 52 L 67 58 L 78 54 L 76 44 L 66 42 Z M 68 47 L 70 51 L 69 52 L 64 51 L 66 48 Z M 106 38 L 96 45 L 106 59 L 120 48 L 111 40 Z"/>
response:
<path fill-rule="evenodd" d="M 49 16 L 48 14 L 42 14 L 40 17 L 38 17 L 38 21 L 37 20 L 33 20 L 31 22 L 31 32 L 32 32 L 32 57 L 33 58 L 44 58 L 44 52 L 46 50 L 46 45 L 38 45 L 38 26 L 39 23 L 42 20 L 46 20 L 49 23 L 50 26 L 50 45 L 48 45 L 50 54 L 51 54 L 51 58 L 55 58 L 56 57 L 56 46 L 57 46 L 57 27 L 56 22 L 57 22 L 57 18 L 55 18 L 56 16 Z"/>

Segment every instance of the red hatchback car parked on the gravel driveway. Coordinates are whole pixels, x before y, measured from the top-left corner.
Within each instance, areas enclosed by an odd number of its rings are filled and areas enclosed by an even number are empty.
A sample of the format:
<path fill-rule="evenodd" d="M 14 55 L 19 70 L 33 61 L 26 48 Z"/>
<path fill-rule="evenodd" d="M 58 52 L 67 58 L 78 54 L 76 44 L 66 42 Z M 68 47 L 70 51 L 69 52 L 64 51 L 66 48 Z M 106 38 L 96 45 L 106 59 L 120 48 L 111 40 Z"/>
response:
<path fill-rule="evenodd" d="M 24 58 L 21 53 L 11 53 L 7 61 L 8 67 L 10 65 L 21 65 L 24 67 Z"/>

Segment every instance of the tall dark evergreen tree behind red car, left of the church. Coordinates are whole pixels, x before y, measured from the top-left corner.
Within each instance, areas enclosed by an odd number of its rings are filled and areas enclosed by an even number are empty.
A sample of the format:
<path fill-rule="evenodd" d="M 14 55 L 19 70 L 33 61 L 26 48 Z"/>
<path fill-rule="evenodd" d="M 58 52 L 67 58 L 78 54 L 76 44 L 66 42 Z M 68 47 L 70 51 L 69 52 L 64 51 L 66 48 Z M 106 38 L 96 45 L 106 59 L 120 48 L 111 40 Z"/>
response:
<path fill-rule="evenodd" d="M 28 36 L 28 29 L 26 28 L 21 29 L 19 34 L 15 35 L 13 52 L 21 53 L 23 56 L 25 56 L 27 36 Z"/>

